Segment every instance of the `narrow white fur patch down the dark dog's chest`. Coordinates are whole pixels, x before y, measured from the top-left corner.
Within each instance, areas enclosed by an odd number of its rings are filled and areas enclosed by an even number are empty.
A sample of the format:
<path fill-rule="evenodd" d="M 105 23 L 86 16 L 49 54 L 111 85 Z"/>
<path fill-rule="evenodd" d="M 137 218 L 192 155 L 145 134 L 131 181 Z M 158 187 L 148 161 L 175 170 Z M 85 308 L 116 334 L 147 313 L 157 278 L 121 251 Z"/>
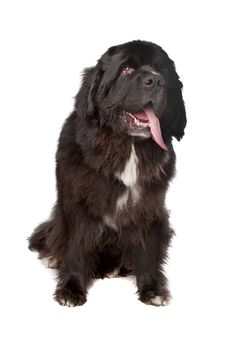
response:
<path fill-rule="evenodd" d="M 115 173 L 115 176 L 123 182 L 126 189 L 116 200 L 115 213 L 113 215 L 105 215 L 104 222 L 108 226 L 117 229 L 118 216 L 129 206 L 136 205 L 140 198 L 141 188 L 138 184 L 138 157 L 134 145 L 132 145 L 131 154 L 125 163 L 124 170 L 121 173 Z"/>

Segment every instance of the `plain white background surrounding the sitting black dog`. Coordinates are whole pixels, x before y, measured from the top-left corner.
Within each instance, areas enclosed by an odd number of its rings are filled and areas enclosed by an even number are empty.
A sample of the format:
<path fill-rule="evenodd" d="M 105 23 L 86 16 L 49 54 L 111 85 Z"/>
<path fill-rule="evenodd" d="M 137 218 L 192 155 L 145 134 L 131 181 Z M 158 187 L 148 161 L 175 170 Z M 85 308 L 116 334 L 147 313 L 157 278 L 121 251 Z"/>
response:
<path fill-rule="evenodd" d="M 231 13 L 230 1 L 1 1 L 2 349 L 233 348 Z M 82 69 L 132 39 L 160 44 L 184 83 L 167 198 L 173 300 L 146 306 L 133 279 L 105 279 L 69 309 L 26 238 L 56 199 L 57 138 Z"/>

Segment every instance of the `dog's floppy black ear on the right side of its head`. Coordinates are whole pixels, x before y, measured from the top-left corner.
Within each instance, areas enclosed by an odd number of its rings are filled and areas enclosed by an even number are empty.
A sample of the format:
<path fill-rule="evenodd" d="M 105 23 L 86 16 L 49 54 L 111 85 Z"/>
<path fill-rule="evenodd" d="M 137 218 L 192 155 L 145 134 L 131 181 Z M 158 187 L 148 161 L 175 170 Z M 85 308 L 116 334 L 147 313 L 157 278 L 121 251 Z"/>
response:
<path fill-rule="evenodd" d="M 173 105 L 173 117 L 171 121 L 171 135 L 174 136 L 178 141 L 184 136 L 184 129 L 186 127 L 186 111 L 182 96 L 182 83 L 180 82 L 180 87 L 177 90 L 175 96 L 175 101 Z"/>

